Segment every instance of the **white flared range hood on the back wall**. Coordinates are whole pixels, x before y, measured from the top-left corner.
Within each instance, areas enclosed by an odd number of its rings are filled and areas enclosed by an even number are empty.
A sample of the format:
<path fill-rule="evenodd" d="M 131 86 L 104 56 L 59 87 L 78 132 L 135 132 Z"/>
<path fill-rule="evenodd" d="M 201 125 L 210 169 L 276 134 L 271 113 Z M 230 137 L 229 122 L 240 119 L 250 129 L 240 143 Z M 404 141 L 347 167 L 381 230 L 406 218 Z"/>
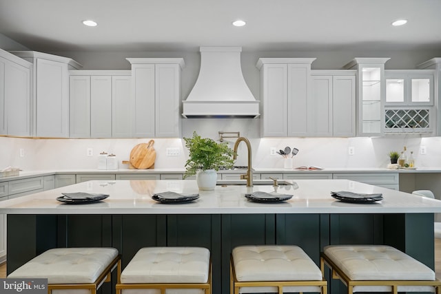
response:
<path fill-rule="evenodd" d="M 256 118 L 256 101 L 243 78 L 240 47 L 201 47 L 201 70 L 183 101 L 185 118 Z"/>

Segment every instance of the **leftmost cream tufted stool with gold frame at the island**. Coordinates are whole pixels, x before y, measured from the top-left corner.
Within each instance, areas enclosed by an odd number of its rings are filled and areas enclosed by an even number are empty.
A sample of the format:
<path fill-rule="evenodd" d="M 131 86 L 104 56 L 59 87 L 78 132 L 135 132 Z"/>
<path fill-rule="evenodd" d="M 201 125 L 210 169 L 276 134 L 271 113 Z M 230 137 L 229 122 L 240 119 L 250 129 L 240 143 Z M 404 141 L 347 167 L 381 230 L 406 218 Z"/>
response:
<path fill-rule="evenodd" d="M 47 278 L 48 293 L 96 294 L 110 282 L 114 269 L 119 279 L 121 257 L 114 248 L 56 248 L 37 255 L 8 278 Z"/>

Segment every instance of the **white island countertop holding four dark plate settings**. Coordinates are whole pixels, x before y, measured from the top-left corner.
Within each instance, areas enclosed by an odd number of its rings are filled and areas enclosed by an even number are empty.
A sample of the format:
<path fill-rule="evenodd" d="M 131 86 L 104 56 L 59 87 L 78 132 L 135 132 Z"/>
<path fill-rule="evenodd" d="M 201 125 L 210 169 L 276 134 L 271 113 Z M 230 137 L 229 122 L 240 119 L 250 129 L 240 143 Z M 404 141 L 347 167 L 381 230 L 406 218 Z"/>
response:
<path fill-rule="evenodd" d="M 255 181 L 258 182 L 258 181 Z M 0 213 L 10 214 L 223 214 L 223 213 L 440 213 L 441 201 L 384 189 L 351 180 L 296 180 L 280 186 L 278 193 L 294 195 L 281 203 L 254 203 L 245 198 L 252 191 L 274 191 L 270 185 L 252 188 L 217 186 L 198 191 L 195 180 L 94 180 L 0 202 Z M 175 191 L 199 193 L 185 204 L 161 204 L 153 193 Z M 384 199 L 371 204 L 350 204 L 331 198 L 330 191 L 382 193 Z M 110 197 L 93 204 L 64 204 L 61 193 L 106 193 Z"/>

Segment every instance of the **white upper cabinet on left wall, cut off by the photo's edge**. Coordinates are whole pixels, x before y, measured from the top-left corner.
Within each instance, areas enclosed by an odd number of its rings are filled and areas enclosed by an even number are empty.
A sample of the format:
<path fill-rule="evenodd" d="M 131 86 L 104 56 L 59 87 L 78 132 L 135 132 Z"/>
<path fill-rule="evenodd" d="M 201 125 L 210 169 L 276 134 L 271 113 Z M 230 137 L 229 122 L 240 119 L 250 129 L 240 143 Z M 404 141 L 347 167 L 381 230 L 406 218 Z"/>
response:
<path fill-rule="evenodd" d="M 32 64 L 0 50 L 0 134 L 31 135 Z"/>

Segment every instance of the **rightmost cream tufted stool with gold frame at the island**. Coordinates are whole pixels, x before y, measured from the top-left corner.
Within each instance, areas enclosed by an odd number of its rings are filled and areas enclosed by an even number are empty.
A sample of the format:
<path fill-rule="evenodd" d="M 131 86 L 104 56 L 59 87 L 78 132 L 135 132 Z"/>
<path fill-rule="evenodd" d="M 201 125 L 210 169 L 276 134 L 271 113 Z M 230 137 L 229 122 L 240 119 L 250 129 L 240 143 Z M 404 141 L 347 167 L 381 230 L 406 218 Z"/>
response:
<path fill-rule="evenodd" d="M 418 260 L 391 246 L 331 245 L 320 257 L 322 273 L 325 264 L 332 277 L 354 292 L 435 292 L 440 294 L 441 281 Z"/>

